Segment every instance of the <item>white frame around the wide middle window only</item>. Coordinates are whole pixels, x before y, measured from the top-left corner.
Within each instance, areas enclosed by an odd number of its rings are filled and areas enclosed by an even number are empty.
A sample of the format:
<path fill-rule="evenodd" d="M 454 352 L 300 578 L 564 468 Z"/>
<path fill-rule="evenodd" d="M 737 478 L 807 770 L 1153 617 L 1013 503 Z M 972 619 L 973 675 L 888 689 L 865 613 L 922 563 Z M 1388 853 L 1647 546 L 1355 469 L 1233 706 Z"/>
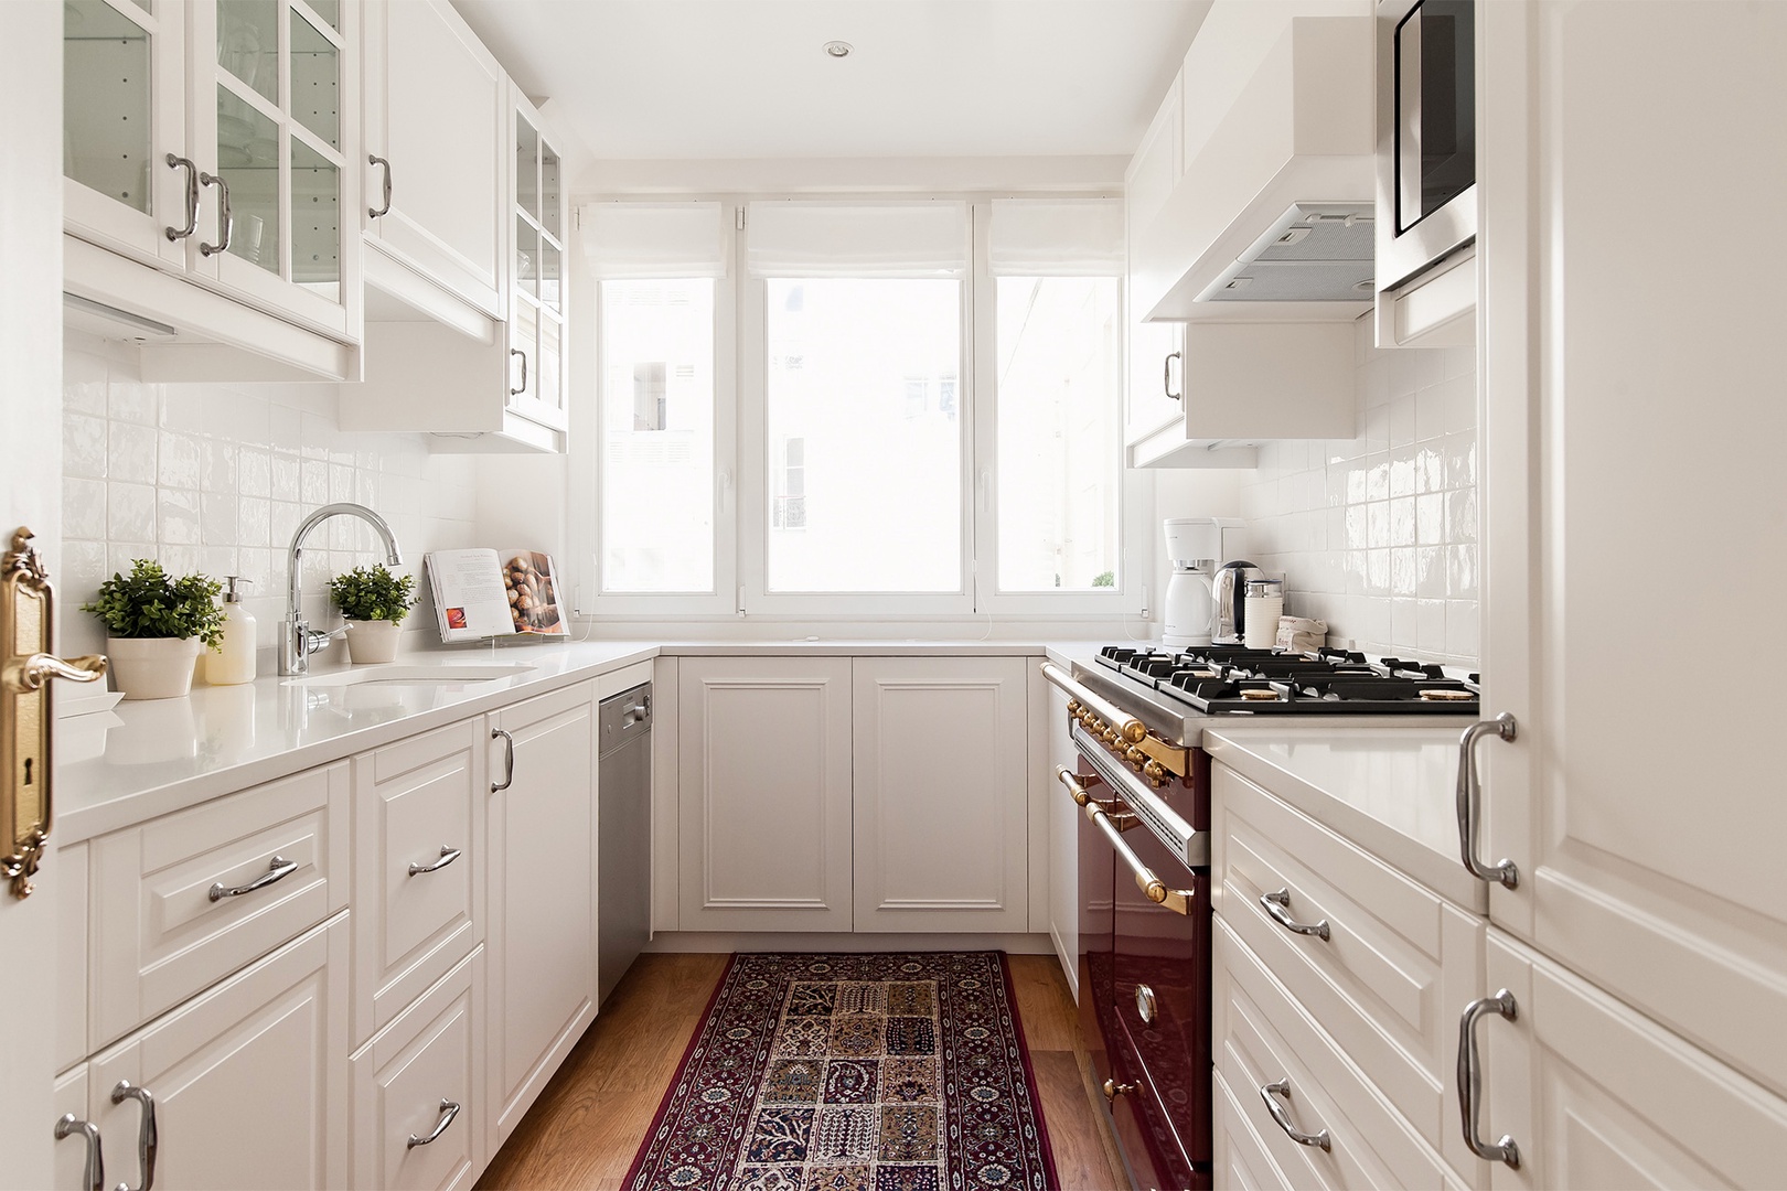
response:
<path fill-rule="evenodd" d="M 751 202 L 779 202 L 786 198 L 795 198 L 793 195 L 768 195 L 752 196 Z M 801 202 L 840 202 L 840 204 L 858 204 L 858 202 L 911 202 L 911 195 L 799 195 Z M 965 195 L 924 195 L 924 198 L 933 198 L 938 202 L 963 202 Z M 742 202 L 740 207 L 745 204 Z M 738 220 L 734 218 L 734 225 Z M 972 500 L 972 479 L 974 479 L 974 452 L 976 452 L 976 434 L 970 418 L 958 414 L 956 425 L 960 427 L 960 477 L 961 486 L 961 504 L 956 509 L 958 516 L 958 541 L 960 541 L 960 586 L 954 591 L 815 591 L 815 593 L 793 593 L 793 591 L 770 591 L 768 589 L 768 525 L 770 525 L 770 496 L 774 495 L 774 459 L 770 459 L 776 443 L 768 436 L 768 282 L 761 277 L 751 277 L 745 246 L 751 237 L 751 229 L 747 227 L 742 236 L 736 237 L 733 252 L 733 275 L 738 279 L 740 287 L 740 325 L 738 325 L 738 377 L 740 377 L 740 418 L 738 418 L 738 443 L 740 443 L 740 486 L 738 486 L 738 545 L 742 554 L 738 559 L 738 575 L 742 582 L 742 609 L 747 616 L 765 616 L 765 618 L 783 618 L 799 621 L 861 621 L 861 620 L 901 620 L 901 621 L 924 621 L 924 620 L 967 620 L 976 614 L 974 611 L 974 500 Z M 972 229 L 969 229 L 969 245 L 972 248 L 977 239 Z M 972 261 L 972 257 L 970 257 Z M 976 295 L 976 270 L 969 268 L 967 275 L 961 279 L 961 341 L 960 341 L 960 362 L 956 368 L 956 377 L 970 375 L 970 362 L 974 354 L 974 295 Z M 963 398 L 961 386 L 958 380 L 958 411 L 961 402 L 967 400 L 972 407 L 972 396 Z"/>

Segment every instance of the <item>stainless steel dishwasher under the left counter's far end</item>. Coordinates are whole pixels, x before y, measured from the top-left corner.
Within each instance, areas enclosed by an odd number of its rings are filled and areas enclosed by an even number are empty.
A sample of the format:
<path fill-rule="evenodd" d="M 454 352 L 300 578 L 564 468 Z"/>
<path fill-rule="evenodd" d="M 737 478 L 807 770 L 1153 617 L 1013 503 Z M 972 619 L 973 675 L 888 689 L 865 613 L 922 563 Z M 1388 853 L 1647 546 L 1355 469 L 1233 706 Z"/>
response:
<path fill-rule="evenodd" d="M 652 930 L 652 684 L 602 700 L 597 805 L 597 1005 Z"/>

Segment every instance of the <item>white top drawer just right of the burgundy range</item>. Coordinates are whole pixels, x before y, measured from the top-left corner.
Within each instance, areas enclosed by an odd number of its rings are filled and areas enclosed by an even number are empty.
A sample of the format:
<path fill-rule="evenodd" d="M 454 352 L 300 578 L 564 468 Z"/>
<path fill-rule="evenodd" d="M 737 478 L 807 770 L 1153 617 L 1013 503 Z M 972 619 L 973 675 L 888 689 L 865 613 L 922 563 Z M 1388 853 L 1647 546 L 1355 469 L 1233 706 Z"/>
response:
<path fill-rule="evenodd" d="M 1458 1121 L 1458 1014 L 1483 980 L 1483 920 L 1219 768 L 1222 920 L 1378 1091 L 1480 1179 Z M 1328 925 L 1328 937 L 1276 921 Z"/>

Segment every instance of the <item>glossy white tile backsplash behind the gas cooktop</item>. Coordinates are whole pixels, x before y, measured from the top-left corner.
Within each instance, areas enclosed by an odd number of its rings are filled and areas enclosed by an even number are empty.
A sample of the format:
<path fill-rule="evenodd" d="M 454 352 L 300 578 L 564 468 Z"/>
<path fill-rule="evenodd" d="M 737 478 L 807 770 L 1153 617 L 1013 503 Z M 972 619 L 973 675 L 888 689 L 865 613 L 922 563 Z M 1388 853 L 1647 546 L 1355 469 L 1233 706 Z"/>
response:
<path fill-rule="evenodd" d="M 1240 486 L 1253 561 L 1285 573 L 1285 612 L 1371 654 L 1478 659 L 1476 354 L 1355 355 L 1358 436 L 1260 448 Z M 1170 514 L 1170 511 L 1169 511 Z"/>

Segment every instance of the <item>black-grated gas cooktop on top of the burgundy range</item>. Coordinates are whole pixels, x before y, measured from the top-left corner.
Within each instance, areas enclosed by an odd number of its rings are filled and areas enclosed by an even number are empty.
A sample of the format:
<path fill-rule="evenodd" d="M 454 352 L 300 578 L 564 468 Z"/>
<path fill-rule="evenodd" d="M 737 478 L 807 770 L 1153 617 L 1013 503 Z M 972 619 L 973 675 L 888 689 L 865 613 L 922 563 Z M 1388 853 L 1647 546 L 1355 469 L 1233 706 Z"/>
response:
<path fill-rule="evenodd" d="M 1097 662 L 1124 682 L 1204 714 L 1478 714 L 1478 675 L 1451 679 L 1433 664 L 1369 661 L 1347 650 L 1285 654 L 1204 645 L 1187 650 L 1106 645 Z"/>

